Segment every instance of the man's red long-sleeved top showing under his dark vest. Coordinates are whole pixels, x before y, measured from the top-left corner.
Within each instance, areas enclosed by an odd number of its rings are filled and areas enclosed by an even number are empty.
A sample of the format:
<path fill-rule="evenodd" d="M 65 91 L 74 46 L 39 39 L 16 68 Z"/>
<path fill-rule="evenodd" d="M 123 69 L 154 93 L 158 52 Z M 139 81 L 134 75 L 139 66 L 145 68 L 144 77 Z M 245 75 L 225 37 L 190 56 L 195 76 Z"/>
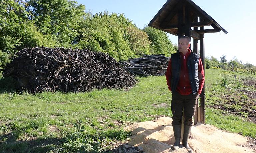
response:
<path fill-rule="evenodd" d="M 187 59 L 189 55 L 191 54 L 191 50 L 189 49 L 188 53 L 186 55 L 183 55 L 182 53 L 182 62 L 181 62 L 181 69 L 180 69 L 180 78 L 179 82 L 176 88 L 176 91 L 181 95 L 189 95 L 192 93 L 192 88 L 189 80 L 189 72 L 188 72 L 188 66 L 187 66 Z M 166 82 L 168 85 L 169 90 L 171 91 L 171 78 L 172 78 L 172 61 L 170 59 L 168 68 L 165 74 Z M 199 58 L 198 63 L 198 79 L 199 79 L 199 89 L 197 91 L 198 94 L 201 94 L 201 91 L 204 86 L 204 68 L 201 61 L 201 58 Z"/>

